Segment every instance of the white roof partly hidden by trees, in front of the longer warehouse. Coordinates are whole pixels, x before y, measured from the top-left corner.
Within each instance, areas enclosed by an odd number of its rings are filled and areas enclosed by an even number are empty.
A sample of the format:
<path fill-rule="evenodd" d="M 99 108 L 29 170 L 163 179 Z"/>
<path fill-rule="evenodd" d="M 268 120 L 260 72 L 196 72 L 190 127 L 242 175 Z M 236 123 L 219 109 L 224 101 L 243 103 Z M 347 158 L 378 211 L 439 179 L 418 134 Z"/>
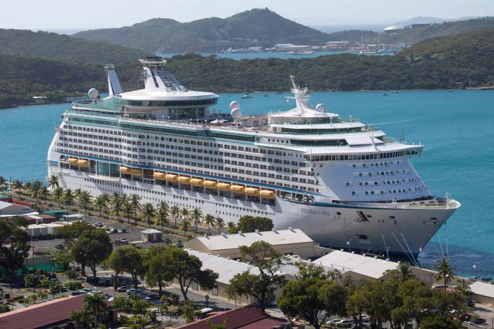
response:
<path fill-rule="evenodd" d="M 202 269 L 212 269 L 214 272 L 218 273 L 218 282 L 228 284 L 230 280 L 235 276 L 250 269 L 252 273 L 259 274 L 259 270 L 245 262 L 238 262 L 236 260 L 231 260 L 228 258 L 219 257 L 217 255 L 210 255 L 208 253 L 201 253 L 199 251 L 193 251 L 190 249 L 185 249 L 189 255 L 194 255 L 203 262 Z"/>

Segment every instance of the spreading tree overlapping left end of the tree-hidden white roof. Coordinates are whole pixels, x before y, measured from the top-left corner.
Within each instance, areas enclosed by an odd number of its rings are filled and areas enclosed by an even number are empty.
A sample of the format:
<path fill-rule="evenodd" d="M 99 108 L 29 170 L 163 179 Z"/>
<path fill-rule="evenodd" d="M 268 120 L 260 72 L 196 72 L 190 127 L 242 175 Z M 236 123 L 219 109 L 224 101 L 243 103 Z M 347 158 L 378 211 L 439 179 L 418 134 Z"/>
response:
<path fill-rule="evenodd" d="M 211 290 L 214 287 L 218 274 L 211 269 L 201 269 L 203 263 L 199 258 L 175 247 L 165 248 L 163 255 L 170 276 L 179 282 L 184 300 L 188 300 L 187 292 L 192 282 L 198 283 L 203 290 Z"/>

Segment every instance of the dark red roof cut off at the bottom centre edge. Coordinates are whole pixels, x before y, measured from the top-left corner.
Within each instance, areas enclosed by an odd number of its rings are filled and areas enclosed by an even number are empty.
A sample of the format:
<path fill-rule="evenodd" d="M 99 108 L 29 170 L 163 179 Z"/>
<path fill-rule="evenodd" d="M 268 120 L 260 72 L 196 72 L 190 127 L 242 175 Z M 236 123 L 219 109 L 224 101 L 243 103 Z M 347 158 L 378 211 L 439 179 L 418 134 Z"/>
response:
<path fill-rule="evenodd" d="M 270 316 L 257 307 L 248 305 L 240 307 L 238 309 L 231 309 L 230 311 L 222 312 L 215 316 L 210 316 L 203 320 L 188 323 L 179 328 L 183 329 L 209 329 L 210 325 L 206 321 L 212 321 L 214 325 L 223 323 L 225 319 L 228 319 L 226 329 L 273 329 L 282 328 L 282 325 L 287 323 L 286 320 L 281 318 L 275 318 Z"/>

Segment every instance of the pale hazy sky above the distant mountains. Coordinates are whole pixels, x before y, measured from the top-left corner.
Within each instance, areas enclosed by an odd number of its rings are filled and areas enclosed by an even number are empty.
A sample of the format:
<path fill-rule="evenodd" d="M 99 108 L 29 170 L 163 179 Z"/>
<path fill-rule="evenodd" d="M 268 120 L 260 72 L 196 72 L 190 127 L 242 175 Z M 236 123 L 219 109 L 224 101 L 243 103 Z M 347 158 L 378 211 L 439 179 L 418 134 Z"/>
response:
<path fill-rule="evenodd" d="M 303 24 L 328 25 L 494 15 L 494 0 L 0 0 L 0 28 L 97 29 L 151 18 L 189 22 L 265 7 Z"/>

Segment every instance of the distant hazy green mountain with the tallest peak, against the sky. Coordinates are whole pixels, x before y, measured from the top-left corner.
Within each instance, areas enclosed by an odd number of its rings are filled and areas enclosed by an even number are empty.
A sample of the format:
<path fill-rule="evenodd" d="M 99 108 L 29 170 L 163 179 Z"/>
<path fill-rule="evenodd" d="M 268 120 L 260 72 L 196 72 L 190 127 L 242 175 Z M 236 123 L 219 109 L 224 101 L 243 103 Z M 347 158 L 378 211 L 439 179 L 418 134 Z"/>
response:
<path fill-rule="evenodd" d="M 229 47 L 319 45 L 327 41 L 327 34 L 282 18 L 268 8 L 186 23 L 155 18 L 131 27 L 81 31 L 74 36 L 149 52 L 216 52 Z"/>

